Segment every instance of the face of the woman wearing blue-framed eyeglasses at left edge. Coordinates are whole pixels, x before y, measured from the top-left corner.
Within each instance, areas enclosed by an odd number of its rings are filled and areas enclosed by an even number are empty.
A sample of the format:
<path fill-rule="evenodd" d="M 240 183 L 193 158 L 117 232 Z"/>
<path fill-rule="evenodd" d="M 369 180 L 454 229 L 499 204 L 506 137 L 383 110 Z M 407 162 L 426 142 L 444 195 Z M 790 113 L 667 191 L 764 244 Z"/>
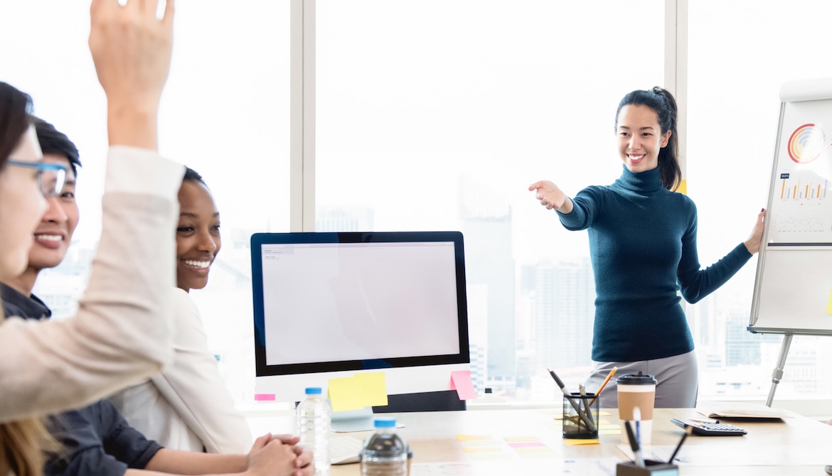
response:
<path fill-rule="evenodd" d="M 42 159 L 33 127 L 22 136 L 9 159 Z M 26 269 L 32 232 L 46 209 L 46 199 L 37 183 L 37 169 L 6 164 L 0 171 L 0 280 L 17 277 Z"/>

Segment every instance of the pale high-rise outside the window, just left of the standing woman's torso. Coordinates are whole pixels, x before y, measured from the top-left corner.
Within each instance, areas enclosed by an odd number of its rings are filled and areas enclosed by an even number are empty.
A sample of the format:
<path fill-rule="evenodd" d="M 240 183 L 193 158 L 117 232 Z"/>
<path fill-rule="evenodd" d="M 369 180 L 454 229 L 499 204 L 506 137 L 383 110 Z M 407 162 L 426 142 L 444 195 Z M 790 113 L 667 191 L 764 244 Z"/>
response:
<path fill-rule="evenodd" d="M 535 288 L 537 366 L 567 369 L 590 364 L 595 283 L 589 259 L 539 263 Z"/>

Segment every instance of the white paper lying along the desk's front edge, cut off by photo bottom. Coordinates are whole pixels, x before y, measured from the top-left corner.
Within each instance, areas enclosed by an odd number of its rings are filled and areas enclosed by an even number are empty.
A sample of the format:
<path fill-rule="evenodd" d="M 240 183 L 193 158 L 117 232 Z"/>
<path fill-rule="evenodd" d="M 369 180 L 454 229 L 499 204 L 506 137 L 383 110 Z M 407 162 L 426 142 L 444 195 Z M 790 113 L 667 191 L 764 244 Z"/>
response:
<path fill-rule="evenodd" d="M 469 463 L 417 463 L 410 476 L 504 476 L 506 474 L 581 474 L 581 476 L 614 476 L 617 458 L 562 459 L 500 459 Z"/>

